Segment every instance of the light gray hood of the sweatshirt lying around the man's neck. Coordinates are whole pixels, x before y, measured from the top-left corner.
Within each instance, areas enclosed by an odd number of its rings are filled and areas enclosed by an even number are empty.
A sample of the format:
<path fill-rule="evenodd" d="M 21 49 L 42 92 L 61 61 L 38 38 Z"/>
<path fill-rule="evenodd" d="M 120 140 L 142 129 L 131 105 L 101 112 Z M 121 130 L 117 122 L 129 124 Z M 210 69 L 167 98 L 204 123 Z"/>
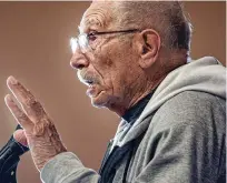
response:
<path fill-rule="evenodd" d="M 122 146 L 149 126 L 150 116 L 166 101 L 184 91 L 200 91 L 226 100 L 226 68 L 213 57 L 205 57 L 171 71 L 156 89 L 141 115 L 130 126 L 121 121 L 114 145 Z"/>

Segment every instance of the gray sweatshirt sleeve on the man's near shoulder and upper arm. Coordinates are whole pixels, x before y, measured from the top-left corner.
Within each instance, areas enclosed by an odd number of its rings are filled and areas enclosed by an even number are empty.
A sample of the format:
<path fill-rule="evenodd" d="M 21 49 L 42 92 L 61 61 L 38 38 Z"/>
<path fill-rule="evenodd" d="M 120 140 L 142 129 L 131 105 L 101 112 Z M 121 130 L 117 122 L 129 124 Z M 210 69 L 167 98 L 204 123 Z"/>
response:
<path fill-rule="evenodd" d="M 203 98 L 179 94 L 154 116 L 149 161 L 132 183 L 225 183 L 225 108 Z"/>

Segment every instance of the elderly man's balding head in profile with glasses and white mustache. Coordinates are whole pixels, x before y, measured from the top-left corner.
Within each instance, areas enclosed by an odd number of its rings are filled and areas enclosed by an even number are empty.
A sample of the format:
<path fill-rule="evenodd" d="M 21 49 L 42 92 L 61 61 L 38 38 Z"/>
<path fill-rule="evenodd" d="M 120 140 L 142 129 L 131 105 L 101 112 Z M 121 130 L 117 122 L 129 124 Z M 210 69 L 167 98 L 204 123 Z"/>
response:
<path fill-rule="evenodd" d="M 71 65 L 92 104 L 119 115 L 187 61 L 190 27 L 178 2 L 96 1 L 79 29 L 88 37 Z"/>

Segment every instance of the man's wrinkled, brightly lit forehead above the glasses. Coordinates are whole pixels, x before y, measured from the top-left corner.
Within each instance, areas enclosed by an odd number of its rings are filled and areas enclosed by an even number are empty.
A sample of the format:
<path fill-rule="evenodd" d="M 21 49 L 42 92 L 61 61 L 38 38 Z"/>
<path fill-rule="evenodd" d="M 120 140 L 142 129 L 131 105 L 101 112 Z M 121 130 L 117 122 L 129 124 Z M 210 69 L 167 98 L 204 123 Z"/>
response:
<path fill-rule="evenodd" d="M 90 30 L 107 30 L 114 26 L 114 6 L 110 1 L 93 1 L 82 16 L 79 26 L 80 33 Z"/>

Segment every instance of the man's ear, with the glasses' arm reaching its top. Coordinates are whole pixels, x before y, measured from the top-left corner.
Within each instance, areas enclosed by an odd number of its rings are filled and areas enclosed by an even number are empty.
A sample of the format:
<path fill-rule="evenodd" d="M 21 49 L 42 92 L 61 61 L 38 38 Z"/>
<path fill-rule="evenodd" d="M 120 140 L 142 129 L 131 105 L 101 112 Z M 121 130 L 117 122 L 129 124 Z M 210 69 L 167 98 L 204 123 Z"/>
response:
<path fill-rule="evenodd" d="M 160 35 L 152 29 L 146 29 L 140 32 L 139 52 L 141 60 L 139 64 L 141 68 L 150 68 L 158 59 L 160 49 Z"/>

